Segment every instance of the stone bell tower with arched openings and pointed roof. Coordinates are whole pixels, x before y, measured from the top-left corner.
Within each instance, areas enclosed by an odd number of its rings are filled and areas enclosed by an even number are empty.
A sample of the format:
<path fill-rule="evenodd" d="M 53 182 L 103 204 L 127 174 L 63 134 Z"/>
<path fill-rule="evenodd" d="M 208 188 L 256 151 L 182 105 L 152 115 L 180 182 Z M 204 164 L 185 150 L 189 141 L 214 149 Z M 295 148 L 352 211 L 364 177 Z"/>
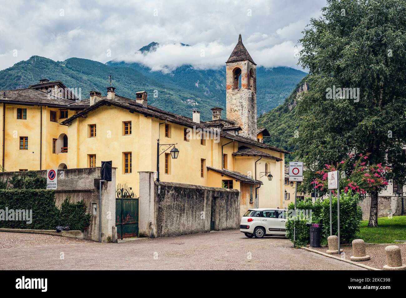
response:
<path fill-rule="evenodd" d="M 240 135 L 253 140 L 257 140 L 256 67 L 240 34 L 226 62 L 226 118 L 241 126 Z"/>

